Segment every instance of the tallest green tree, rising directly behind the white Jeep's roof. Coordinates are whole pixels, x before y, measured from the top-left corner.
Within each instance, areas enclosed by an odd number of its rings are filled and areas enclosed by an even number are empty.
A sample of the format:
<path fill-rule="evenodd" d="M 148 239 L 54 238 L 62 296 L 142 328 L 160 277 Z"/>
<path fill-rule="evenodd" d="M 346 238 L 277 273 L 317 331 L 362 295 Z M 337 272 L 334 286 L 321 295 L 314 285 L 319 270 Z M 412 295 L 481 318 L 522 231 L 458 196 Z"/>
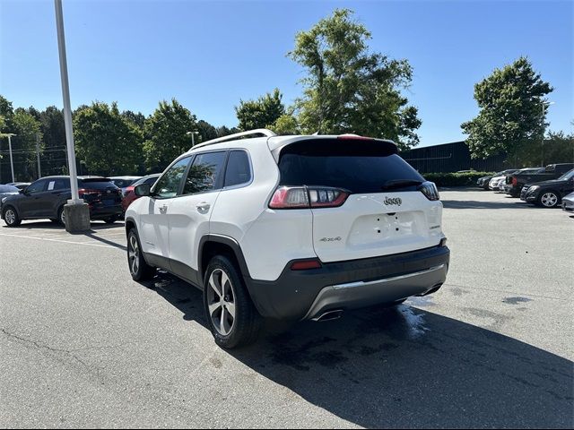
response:
<path fill-rule="evenodd" d="M 415 130 L 422 124 L 401 93 L 413 69 L 406 60 L 370 53 L 369 39 L 349 9 L 297 34 L 288 56 L 308 73 L 296 103 L 300 126 L 305 133 L 359 133 L 409 148 L 419 142 Z"/>

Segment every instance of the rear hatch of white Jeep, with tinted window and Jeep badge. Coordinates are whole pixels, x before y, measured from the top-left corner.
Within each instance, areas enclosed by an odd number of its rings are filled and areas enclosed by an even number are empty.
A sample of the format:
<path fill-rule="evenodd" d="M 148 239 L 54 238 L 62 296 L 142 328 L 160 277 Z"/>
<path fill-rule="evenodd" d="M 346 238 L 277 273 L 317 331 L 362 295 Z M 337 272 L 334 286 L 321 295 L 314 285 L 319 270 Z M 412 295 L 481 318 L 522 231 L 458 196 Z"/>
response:
<path fill-rule="evenodd" d="M 392 142 L 364 138 L 292 142 L 279 154 L 280 186 L 270 207 L 311 209 L 322 262 L 439 245 L 438 193 L 396 152 Z"/>

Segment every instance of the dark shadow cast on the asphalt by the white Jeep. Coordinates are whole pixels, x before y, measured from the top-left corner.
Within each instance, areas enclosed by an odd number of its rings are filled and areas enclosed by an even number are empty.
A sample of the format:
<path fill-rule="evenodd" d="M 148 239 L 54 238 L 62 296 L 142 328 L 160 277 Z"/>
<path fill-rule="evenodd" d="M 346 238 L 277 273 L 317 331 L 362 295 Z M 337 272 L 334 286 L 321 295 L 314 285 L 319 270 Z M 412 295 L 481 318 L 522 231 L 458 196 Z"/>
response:
<path fill-rule="evenodd" d="M 205 326 L 196 288 L 167 273 L 144 285 Z M 574 425 L 570 360 L 409 305 L 271 324 L 257 344 L 227 353 L 359 426 Z"/>

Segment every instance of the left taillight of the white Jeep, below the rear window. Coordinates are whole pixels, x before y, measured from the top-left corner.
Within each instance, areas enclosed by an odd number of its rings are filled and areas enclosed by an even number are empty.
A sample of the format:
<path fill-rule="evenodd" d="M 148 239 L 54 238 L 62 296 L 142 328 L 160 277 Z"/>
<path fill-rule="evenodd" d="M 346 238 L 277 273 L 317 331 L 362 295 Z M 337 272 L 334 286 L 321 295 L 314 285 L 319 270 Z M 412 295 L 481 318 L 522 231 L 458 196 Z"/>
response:
<path fill-rule="evenodd" d="M 275 190 L 271 209 L 336 208 L 349 197 L 349 192 L 328 186 L 281 186 Z"/>

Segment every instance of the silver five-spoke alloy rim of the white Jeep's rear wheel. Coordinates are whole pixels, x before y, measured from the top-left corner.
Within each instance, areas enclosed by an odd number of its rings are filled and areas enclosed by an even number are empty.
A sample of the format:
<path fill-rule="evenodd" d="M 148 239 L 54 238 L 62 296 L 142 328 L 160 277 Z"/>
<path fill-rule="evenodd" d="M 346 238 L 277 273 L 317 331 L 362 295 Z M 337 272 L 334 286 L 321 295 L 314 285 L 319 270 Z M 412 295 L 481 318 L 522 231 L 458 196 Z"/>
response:
<path fill-rule="evenodd" d="M 209 277 L 207 308 L 215 330 L 223 336 L 230 334 L 235 324 L 235 290 L 222 269 L 215 269 Z"/>

